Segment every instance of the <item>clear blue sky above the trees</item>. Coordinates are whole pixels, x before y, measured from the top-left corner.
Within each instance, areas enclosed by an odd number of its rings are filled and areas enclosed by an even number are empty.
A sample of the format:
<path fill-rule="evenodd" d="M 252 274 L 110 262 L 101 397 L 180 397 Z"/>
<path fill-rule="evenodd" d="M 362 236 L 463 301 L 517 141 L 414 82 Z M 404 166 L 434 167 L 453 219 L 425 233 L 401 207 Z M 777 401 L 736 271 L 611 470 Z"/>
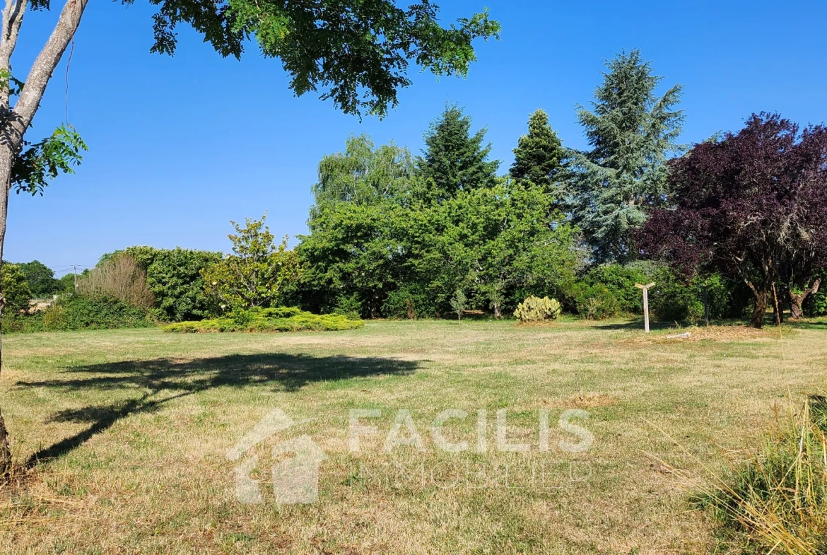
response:
<path fill-rule="evenodd" d="M 440 3 L 440 2 L 437 2 Z M 62 2 L 55 2 L 55 5 Z M 737 129 L 751 112 L 827 120 L 824 2 L 441 2 L 446 21 L 488 6 L 502 41 L 476 43 L 468 79 L 414 72 L 385 120 L 294 98 L 278 60 L 255 45 L 224 60 L 181 29 L 174 58 L 150 54 L 151 7 L 90 2 L 69 66 L 68 115 L 89 152 L 76 175 L 44 197 L 12 194 L 6 260 L 91 266 L 130 245 L 229 248 L 229 220 L 268 211 L 278 235 L 306 231 L 318 160 L 351 133 L 415 152 L 445 103 L 489 129 L 493 156 L 511 163 L 528 114 L 544 108 L 564 144 L 583 147 L 575 104 L 588 103 L 603 60 L 639 48 L 685 86 L 682 141 Z M 13 60 L 25 76 L 55 19 L 29 13 Z M 66 59 L 55 71 L 31 138 L 66 116 Z"/>

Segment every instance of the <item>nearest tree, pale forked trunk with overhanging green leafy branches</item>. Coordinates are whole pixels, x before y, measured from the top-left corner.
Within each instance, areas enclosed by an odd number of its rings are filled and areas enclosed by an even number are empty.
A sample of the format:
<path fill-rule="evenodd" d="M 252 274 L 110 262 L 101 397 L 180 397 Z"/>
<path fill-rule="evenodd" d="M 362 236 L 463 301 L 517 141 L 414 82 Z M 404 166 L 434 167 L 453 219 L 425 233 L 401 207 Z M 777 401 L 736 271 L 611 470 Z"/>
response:
<path fill-rule="evenodd" d="M 131 3 L 133 0 L 122 0 Z M 278 58 L 296 94 L 318 91 L 347 113 L 383 116 L 407 87 L 409 65 L 437 75 L 466 75 L 476 60 L 471 42 L 497 37 L 500 24 L 487 12 L 450 26 L 437 20 L 428 0 L 398 7 L 392 0 L 149 0 L 157 7 L 152 50 L 173 54 L 176 27 L 189 25 L 223 56 L 241 57 L 254 43 Z M 6 0 L 0 22 L 0 260 L 6 233 L 8 195 L 13 188 L 42 193 L 48 179 L 70 172 L 86 149 L 65 122 L 39 142 L 26 141 L 37 108 L 67 45 L 78 30 L 88 0 L 65 0 L 60 17 L 25 81 L 12 74 L 12 55 L 26 12 L 50 9 L 50 0 Z M 28 16 L 28 17 L 31 17 Z M 214 91 L 204 91 L 213 94 Z M 0 295 L 2 311 L 2 295 Z M 0 413 L 0 476 L 11 452 Z"/>

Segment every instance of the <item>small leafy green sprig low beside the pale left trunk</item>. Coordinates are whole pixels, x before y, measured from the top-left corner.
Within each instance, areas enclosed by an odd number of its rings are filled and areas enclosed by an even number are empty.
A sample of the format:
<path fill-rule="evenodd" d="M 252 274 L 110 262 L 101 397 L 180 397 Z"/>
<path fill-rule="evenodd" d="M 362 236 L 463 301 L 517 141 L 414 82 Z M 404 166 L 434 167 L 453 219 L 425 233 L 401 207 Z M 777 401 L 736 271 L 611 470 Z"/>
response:
<path fill-rule="evenodd" d="M 61 125 L 40 142 L 23 141 L 24 151 L 12 165 L 12 188 L 17 194 L 43 194 L 50 179 L 59 174 L 74 174 L 73 166 L 84 160 L 86 143 L 70 125 Z"/>

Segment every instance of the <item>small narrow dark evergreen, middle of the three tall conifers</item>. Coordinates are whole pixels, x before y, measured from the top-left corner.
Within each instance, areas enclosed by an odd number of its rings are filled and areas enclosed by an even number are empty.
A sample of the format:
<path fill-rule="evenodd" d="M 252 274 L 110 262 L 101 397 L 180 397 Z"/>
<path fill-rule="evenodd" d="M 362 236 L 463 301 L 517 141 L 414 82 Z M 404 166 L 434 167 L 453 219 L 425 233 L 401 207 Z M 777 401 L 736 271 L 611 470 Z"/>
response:
<path fill-rule="evenodd" d="M 518 182 L 530 181 L 551 192 L 566 160 L 566 150 L 548 123 L 542 109 L 528 118 L 528 134 L 519 138 L 514 149 L 510 174 Z"/>

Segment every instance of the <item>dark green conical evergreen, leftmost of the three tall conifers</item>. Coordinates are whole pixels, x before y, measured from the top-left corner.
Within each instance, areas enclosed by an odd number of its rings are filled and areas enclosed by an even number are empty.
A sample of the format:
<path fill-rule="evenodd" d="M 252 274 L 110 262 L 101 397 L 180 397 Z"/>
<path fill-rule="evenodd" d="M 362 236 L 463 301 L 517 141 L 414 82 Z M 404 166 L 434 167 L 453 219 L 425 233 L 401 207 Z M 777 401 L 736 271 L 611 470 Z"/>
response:
<path fill-rule="evenodd" d="M 483 146 L 485 127 L 471 135 L 471 117 L 448 106 L 425 132 L 425 150 L 417 160 L 418 173 L 429 195 L 451 199 L 463 190 L 495 183 L 500 160 L 488 160 L 491 145 Z"/>

